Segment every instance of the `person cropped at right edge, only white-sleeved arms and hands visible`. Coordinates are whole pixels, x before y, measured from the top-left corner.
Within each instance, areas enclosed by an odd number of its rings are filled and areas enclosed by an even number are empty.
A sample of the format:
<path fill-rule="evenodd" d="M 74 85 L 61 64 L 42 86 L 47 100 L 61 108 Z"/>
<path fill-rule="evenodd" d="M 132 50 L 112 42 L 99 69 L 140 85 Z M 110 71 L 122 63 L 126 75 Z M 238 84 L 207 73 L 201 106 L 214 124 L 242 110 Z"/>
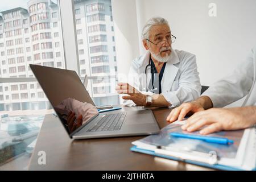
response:
<path fill-rule="evenodd" d="M 241 107 L 223 107 L 245 97 Z M 210 86 L 199 99 L 176 107 L 167 121 L 181 120 L 188 113 L 195 113 L 182 126 L 189 132 L 200 130 L 209 134 L 220 130 L 245 129 L 256 124 L 256 47 L 237 69 Z"/>

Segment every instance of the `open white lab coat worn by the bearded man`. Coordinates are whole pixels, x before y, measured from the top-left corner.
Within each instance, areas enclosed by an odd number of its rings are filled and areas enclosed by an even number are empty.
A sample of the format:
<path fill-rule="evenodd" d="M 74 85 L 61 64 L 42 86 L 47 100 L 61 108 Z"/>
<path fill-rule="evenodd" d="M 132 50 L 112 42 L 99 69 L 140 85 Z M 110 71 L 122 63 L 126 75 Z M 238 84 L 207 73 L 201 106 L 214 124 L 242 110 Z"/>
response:
<path fill-rule="evenodd" d="M 196 56 L 185 51 L 174 49 L 171 51 L 171 57 L 166 63 L 161 81 L 162 95 L 172 106 L 179 106 L 183 102 L 196 100 L 200 96 L 201 84 Z M 147 51 L 132 61 L 129 71 L 128 83 L 144 94 L 152 94 L 145 90 L 145 68 L 149 60 L 150 52 Z M 139 75 L 144 75 L 145 78 L 140 79 Z M 147 80 L 147 83 L 149 82 L 150 80 Z M 123 104 L 135 105 L 133 101 L 124 101 Z"/>

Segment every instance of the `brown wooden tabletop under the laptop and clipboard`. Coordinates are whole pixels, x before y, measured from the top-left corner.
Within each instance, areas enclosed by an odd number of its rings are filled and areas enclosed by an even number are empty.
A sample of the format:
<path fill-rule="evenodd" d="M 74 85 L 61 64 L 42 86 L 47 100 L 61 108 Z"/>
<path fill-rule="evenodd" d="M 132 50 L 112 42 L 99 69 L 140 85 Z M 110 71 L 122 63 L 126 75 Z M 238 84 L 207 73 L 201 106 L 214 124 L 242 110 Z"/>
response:
<path fill-rule="evenodd" d="M 124 107 L 123 110 L 129 110 Z M 160 128 L 168 125 L 171 109 L 152 110 Z M 72 140 L 58 118 L 44 119 L 30 170 L 207 170 L 208 168 L 131 152 L 131 142 L 143 137 Z M 46 165 L 38 164 L 38 152 L 46 152 Z"/>

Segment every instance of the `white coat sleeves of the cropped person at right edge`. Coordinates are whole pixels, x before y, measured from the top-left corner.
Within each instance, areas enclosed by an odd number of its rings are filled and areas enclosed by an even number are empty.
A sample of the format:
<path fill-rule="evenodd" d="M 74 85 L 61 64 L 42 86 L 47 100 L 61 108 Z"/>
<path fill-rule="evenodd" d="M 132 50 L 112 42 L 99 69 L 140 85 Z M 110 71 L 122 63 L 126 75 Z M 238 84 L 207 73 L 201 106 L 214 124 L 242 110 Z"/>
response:
<path fill-rule="evenodd" d="M 202 96 L 210 97 L 214 107 L 224 107 L 246 97 L 242 106 L 256 105 L 256 47 L 230 75 L 215 82 Z"/>

